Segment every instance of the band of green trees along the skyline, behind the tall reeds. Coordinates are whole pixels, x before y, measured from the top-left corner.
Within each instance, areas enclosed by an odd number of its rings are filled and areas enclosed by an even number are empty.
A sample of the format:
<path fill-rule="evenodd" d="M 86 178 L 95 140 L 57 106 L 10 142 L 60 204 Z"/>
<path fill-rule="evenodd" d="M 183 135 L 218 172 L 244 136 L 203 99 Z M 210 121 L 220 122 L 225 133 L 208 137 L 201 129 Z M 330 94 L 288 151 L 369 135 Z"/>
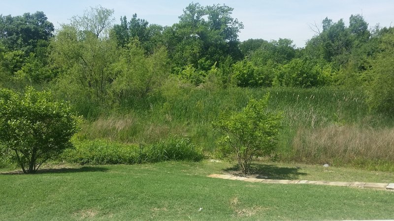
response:
<path fill-rule="evenodd" d="M 127 107 L 166 84 L 183 87 L 319 87 L 363 91 L 372 111 L 393 114 L 394 29 L 361 15 L 328 18 L 304 48 L 291 39 L 238 40 L 227 5 L 191 3 L 172 26 L 133 14 L 114 24 L 101 6 L 56 33 L 43 12 L 0 16 L 0 85 L 50 88 L 84 115 Z M 93 114 L 94 115 L 94 114 Z"/>

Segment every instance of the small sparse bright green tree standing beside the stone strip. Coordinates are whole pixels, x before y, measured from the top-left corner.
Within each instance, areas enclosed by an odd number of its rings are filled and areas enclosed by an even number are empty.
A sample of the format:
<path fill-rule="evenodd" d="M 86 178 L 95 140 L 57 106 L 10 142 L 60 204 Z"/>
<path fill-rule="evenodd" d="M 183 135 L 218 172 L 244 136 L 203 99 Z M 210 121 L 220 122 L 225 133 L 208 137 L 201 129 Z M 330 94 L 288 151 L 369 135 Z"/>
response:
<path fill-rule="evenodd" d="M 242 111 L 222 113 L 213 127 L 223 135 L 218 139 L 222 152 L 235 152 L 242 172 L 247 174 L 253 157 L 270 155 L 276 149 L 276 136 L 282 115 L 270 113 L 269 94 L 263 99 L 250 99 Z"/>

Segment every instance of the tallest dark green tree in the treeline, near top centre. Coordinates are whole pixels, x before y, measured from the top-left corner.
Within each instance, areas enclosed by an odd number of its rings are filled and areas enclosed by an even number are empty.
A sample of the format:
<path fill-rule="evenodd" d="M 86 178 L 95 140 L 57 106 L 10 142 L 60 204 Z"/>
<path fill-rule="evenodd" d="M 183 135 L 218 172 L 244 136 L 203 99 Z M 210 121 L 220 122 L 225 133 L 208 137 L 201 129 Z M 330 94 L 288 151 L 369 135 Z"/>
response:
<path fill-rule="evenodd" d="M 232 10 L 227 5 L 204 7 L 191 3 L 183 10 L 179 23 L 164 29 L 164 44 L 175 73 L 190 64 L 198 71 L 209 71 L 228 56 L 242 58 L 237 38 L 243 25 L 231 17 Z"/>

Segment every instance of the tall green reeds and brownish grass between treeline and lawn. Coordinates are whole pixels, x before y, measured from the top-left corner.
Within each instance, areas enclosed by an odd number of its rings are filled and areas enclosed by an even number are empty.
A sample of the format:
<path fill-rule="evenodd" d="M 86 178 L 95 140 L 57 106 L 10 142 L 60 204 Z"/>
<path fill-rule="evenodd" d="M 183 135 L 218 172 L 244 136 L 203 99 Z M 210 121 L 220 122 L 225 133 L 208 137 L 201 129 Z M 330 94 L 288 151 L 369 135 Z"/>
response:
<path fill-rule="evenodd" d="M 362 162 L 373 159 L 394 164 L 394 159 L 387 157 L 390 151 L 393 153 L 394 138 L 385 135 L 394 128 L 394 120 L 370 114 L 360 92 L 329 87 L 208 90 L 173 85 L 164 88 L 144 99 L 120 102 L 115 114 L 101 113 L 97 119 L 88 120 L 79 136 L 152 143 L 175 134 L 187 136 L 204 150 L 213 151 L 217 135 L 211 122 L 218 114 L 241 110 L 249 97 L 259 99 L 269 92 L 268 109 L 282 111 L 284 115 L 278 142 L 279 159 L 337 165 L 356 165 L 356 161 L 357 165 L 363 165 Z M 360 139 L 355 141 L 356 137 Z M 377 146 L 375 142 L 379 139 L 386 141 Z M 360 148 L 368 151 L 356 151 L 360 143 L 363 144 Z M 345 149 L 348 152 L 352 149 L 353 155 L 343 154 Z M 371 155 L 369 150 L 373 149 L 381 154 Z"/>

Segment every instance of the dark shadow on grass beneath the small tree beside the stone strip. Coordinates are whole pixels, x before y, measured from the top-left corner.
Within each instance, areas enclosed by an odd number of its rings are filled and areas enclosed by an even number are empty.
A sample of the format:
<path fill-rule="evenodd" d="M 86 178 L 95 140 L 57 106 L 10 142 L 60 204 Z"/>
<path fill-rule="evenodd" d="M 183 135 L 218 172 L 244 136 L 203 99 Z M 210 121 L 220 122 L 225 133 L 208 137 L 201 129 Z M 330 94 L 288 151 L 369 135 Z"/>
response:
<path fill-rule="evenodd" d="M 224 171 L 237 176 L 244 176 L 239 165 L 226 168 Z M 258 179 L 296 180 L 299 175 L 306 175 L 306 173 L 298 172 L 298 168 L 296 167 L 279 167 L 276 165 L 252 163 L 248 175 Z"/>

